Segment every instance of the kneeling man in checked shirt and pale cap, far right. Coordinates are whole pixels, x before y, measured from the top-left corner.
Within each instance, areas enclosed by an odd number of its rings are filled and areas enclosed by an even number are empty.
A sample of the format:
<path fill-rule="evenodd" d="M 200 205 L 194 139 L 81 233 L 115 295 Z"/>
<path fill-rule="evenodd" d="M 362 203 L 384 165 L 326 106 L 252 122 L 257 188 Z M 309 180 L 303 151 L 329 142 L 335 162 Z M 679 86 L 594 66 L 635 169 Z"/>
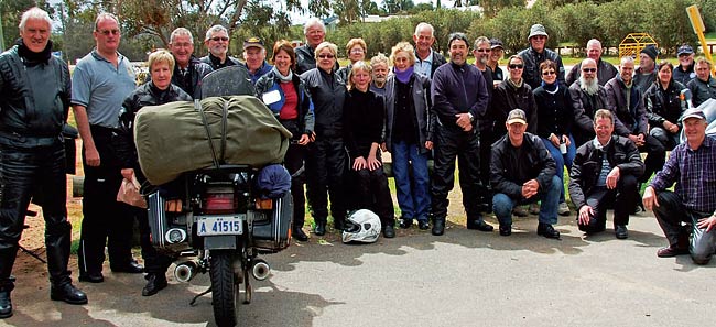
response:
<path fill-rule="evenodd" d="M 686 110 L 682 122 L 686 142 L 674 148 L 642 200 L 669 240 L 657 255 L 691 253 L 694 263 L 706 264 L 716 250 L 716 140 L 706 137 L 706 116 L 699 109 Z M 668 190 L 674 183 L 674 192 Z"/>

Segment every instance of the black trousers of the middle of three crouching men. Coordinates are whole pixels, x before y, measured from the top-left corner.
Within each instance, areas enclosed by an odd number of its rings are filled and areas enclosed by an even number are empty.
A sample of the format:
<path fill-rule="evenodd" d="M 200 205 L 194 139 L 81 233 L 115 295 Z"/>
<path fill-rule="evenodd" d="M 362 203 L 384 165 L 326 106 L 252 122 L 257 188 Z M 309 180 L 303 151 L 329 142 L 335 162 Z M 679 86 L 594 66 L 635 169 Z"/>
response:
<path fill-rule="evenodd" d="M 587 205 L 594 210 L 594 216 L 588 225 L 577 222 L 579 230 L 585 232 L 604 230 L 609 208 L 614 208 L 614 225 L 629 225 L 629 215 L 639 200 L 637 192 L 637 177 L 628 174 L 621 175 L 615 189 L 608 189 L 606 186 L 594 187 L 590 194 L 585 195 Z"/>

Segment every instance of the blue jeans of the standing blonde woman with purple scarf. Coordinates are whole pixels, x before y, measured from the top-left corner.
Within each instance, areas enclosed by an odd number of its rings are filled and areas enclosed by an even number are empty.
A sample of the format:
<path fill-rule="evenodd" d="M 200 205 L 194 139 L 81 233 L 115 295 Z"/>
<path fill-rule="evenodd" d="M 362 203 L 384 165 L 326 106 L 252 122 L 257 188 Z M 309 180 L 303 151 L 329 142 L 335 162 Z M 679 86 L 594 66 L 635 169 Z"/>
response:
<path fill-rule="evenodd" d="M 421 154 L 417 144 L 405 144 L 401 141 L 392 144 L 391 155 L 398 206 L 400 206 L 402 218 L 417 218 L 417 220 L 427 221 L 430 210 L 427 154 Z M 411 166 L 413 181 L 409 174 Z"/>

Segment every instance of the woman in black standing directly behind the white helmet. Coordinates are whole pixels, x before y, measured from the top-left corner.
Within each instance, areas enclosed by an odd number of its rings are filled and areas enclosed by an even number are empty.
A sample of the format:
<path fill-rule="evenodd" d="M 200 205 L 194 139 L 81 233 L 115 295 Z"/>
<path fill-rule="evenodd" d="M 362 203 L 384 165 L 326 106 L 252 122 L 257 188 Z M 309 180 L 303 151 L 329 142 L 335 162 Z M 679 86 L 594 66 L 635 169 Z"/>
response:
<path fill-rule="evenodd" d="M 386 238 L 395 237 L 393 200 L 388 177 L 382 168 L 382 142 L 386 106 L 383 98 L 371 91 L 371 68 L 356 62 L 348 73 L 348 95 L 344 105 L 344 138 L 348 149 L 350 171 L 358 182 L 358 209 L 370 209 L 380 217 Z"/>

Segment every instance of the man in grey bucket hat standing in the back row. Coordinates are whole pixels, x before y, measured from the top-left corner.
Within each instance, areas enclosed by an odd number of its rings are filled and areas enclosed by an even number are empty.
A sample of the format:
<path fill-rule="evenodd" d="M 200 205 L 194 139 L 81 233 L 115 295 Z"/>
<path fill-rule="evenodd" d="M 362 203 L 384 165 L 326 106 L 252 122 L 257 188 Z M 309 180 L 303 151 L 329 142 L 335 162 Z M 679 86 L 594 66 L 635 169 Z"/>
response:
<path fill-rule="evenodd" d="M 540 87 L 542 84 L 542 75 L 540 72 L 540 64 L 550 59 L 557 64 L 557 80 L 562 85 L 564 81 L 564 65 L 562 65 L 562 57 L 546 48 L 546 43 L 550 36 L 542 24 L 534 24 L 530 28 L 530 35 L 527 37 L 530 42 L 530 47 L 521 51 L 518 55 L 524 61 L 524 81 L 529 84 L 532 89 Z"/>

